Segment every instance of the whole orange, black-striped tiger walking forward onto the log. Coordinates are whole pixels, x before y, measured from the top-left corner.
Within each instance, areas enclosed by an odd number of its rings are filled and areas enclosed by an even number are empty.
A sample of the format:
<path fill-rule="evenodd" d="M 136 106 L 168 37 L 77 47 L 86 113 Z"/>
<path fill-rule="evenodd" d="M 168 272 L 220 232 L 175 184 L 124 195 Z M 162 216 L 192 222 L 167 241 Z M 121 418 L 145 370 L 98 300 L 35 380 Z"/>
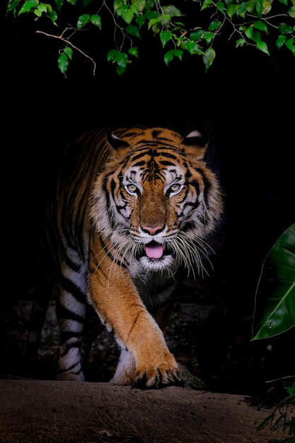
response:
<path fill-rule="evenodd" d="M 83 380 L 86 305 L 121 349 L 113 384 L 181 384 L 160 328 L 184 272 L 197 276 L 223 210 L 208 140 L 163 127 L 103 128 L 69 143 L 47 207 L 57 267 L 59 379 Z"/>

